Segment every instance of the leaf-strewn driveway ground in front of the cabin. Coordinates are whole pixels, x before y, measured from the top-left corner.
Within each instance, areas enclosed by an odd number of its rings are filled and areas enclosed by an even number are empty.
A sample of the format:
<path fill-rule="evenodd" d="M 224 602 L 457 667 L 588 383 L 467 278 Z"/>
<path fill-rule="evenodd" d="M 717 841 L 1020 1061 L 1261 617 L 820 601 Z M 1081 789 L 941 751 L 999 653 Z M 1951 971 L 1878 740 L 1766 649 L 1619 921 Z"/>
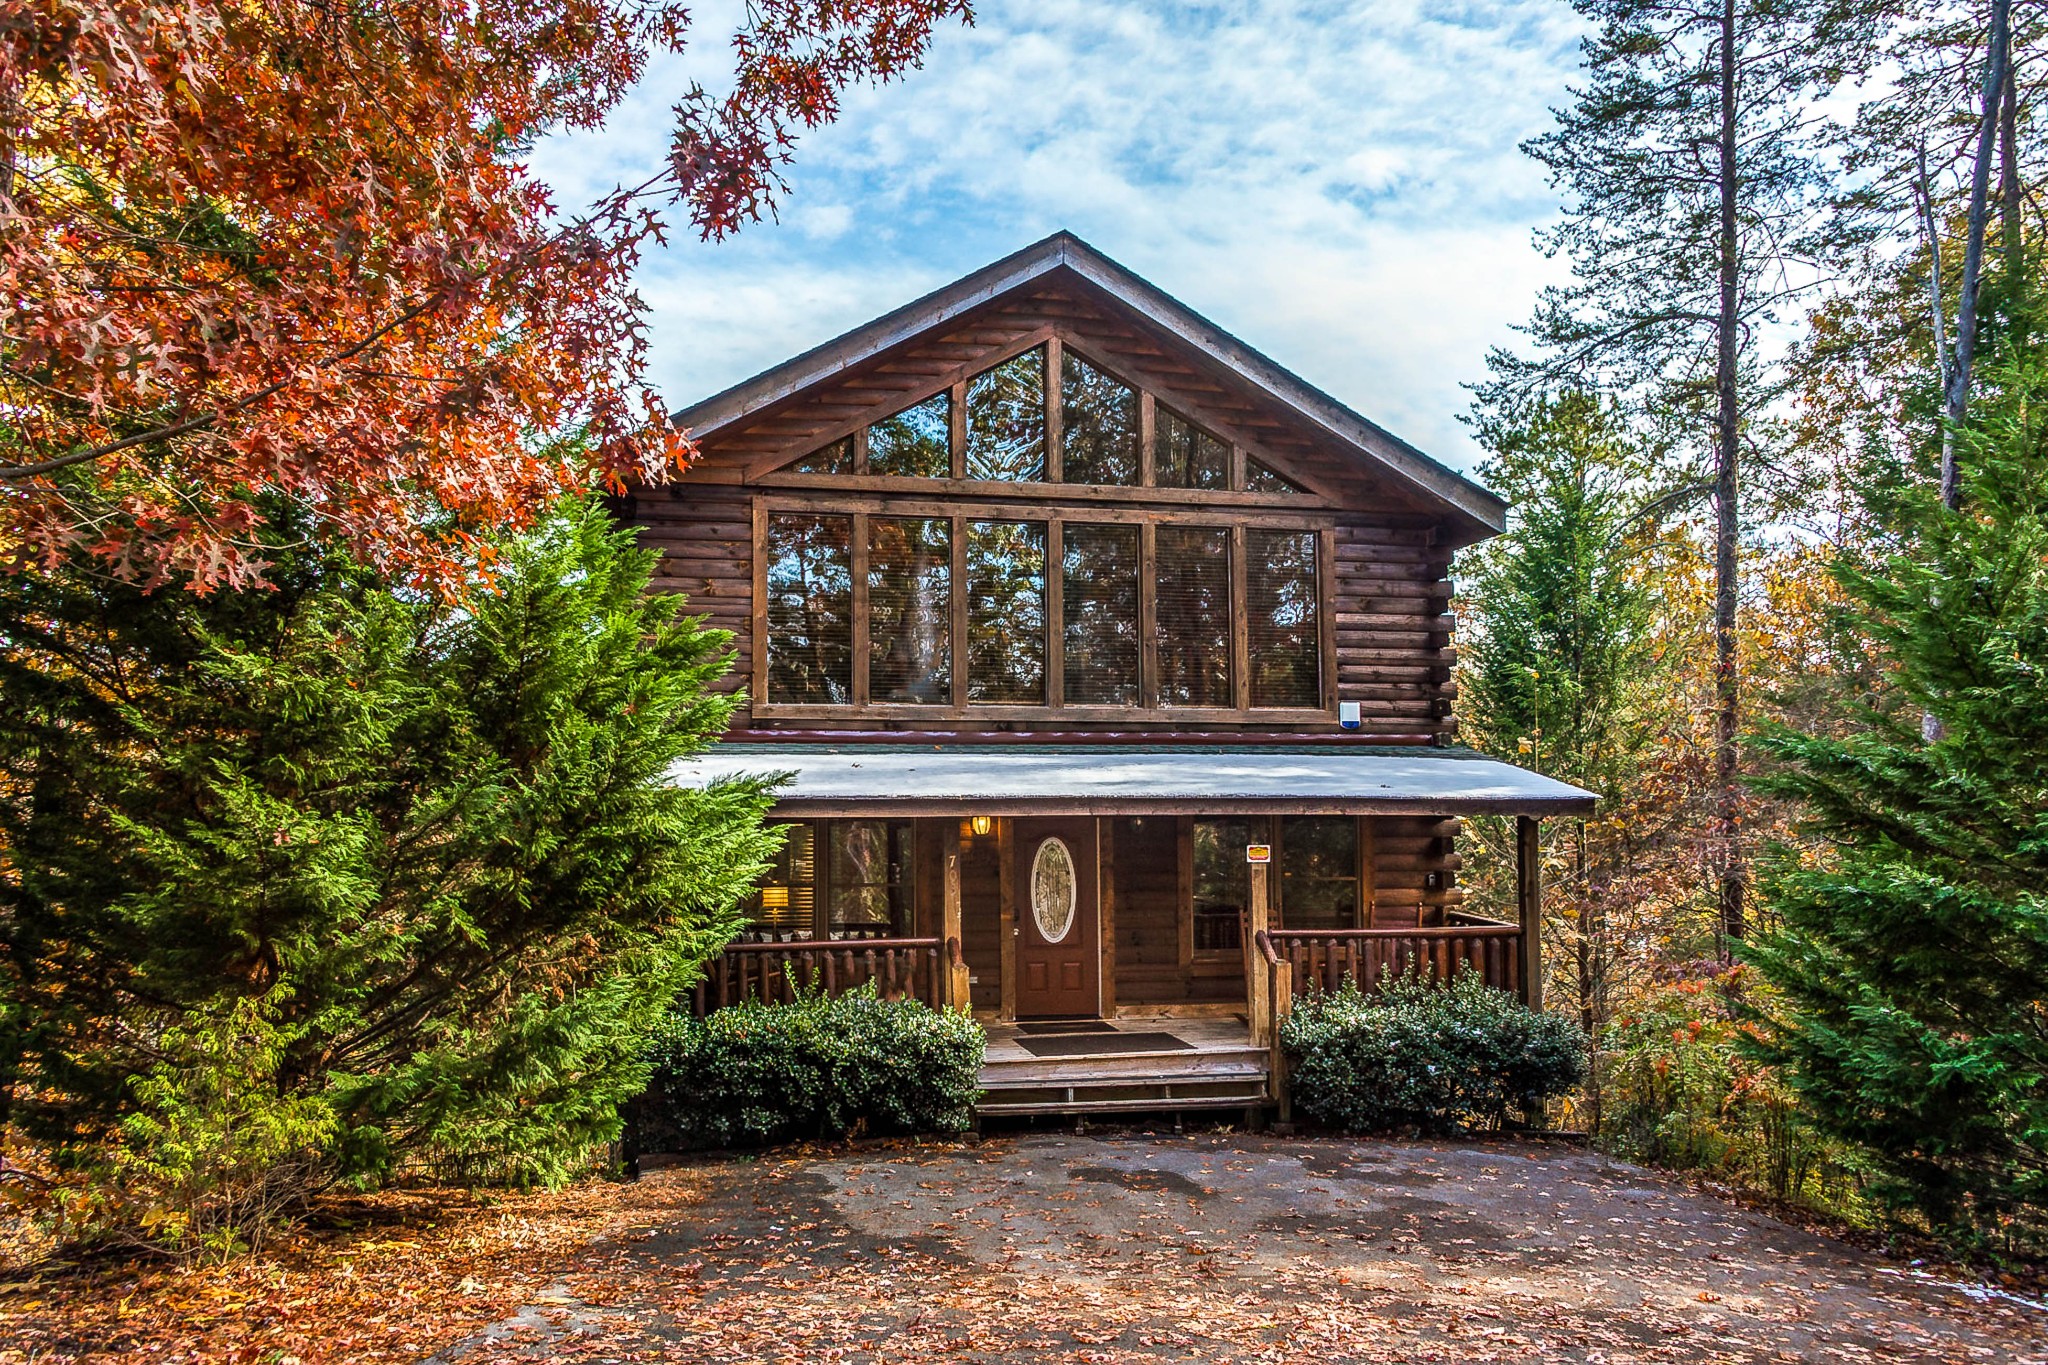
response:
<path fill-rule="evenodd" d="M 643 1179 L 678 1183 L 434 1363 L 2048 1363 L 2042 1306 L 1567 1146 L 1026 1134 Z"/>

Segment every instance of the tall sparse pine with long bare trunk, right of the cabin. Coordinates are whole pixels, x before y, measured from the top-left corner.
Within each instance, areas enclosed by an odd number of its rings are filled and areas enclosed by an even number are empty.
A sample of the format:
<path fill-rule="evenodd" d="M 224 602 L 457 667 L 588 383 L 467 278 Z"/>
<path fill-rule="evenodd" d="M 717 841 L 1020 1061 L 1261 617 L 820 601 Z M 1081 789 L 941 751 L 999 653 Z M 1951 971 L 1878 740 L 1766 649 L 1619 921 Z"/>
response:
<path fill-rule="evenodd" d="M 1495 352 L 1493 405 L 1559 385 L 1628 395 L 1710 432 L 1714 503 L 1716 837 L 1726 935 L 1745 929 L 1737 641 L 1743 444 L 1767 399 L 1759 327 L 1815 282 L 1825 180 L 1812 98 L 1872 23 L 1858 4 L 1573 0 L 1591 20 L 1587 84 L 1526 143 L 1565 192 L 1538 244 L 1571 258 L 1544 291 L 1534 356 Z"/>

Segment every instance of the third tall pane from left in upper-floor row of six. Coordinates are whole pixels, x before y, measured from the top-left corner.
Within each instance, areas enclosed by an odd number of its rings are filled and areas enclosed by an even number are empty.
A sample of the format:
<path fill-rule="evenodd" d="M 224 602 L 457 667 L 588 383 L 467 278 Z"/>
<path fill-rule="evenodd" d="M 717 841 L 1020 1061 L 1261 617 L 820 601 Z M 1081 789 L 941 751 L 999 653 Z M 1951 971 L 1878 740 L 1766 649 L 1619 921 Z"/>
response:
<path fill-rule="evenodd" d="M 967 700 L 1044 704 L 1044 522 L 967 524 Z"/>

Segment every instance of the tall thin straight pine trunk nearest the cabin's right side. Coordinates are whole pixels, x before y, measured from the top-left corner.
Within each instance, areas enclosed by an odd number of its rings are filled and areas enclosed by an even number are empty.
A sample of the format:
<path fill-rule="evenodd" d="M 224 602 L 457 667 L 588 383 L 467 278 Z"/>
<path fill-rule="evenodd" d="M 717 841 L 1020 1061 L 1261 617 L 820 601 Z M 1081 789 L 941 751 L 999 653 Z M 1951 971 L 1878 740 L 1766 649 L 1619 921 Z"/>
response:
<path fill-rule="evenodd" d="M 2003 2 L 2003 0 L 2001 0 Z M 1720 0 L 1720 319 L 1714 385 L 1720 397 L 1714 452 L 1714 778 L 1718 784 L 1720 931 L 1743 937 L 1743 849 L 1737 774 L 1741 679 L 1737 675 L 1737 542 L 1741 534 L 1741 409 L 1735 401 L 1737 327 L 1741 325 L 1741 244 L 1737 235 L 1737 123 L 1735 123 L 1735 0 Z"/>

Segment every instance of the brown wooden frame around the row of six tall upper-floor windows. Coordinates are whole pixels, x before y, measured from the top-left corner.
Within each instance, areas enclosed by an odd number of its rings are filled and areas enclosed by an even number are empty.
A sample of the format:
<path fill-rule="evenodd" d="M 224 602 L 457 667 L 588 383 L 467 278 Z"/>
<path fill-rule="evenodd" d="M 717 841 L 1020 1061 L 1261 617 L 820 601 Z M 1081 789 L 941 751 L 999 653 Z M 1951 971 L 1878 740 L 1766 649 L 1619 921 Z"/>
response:
<path fill-rule="evenodd" d="M 1260 518 L 1262 530 L 1303 530 L 1317 532 L 1317 616 L 1319 616 L 1319 677 L 1321 698 L 1317 706 L 1249 706 L 1249 620 L 1245 616 L 1245 526 L 1219 518 L 1214 512 L 1188 508 L 1100 508 L 1034 503 L 1020 508 L 1006 501 L 938 501 L 938 499 L 895 499 L 874 495 L 805 497 L 799 493 L 762 495 L 754 499 L 754 544 L 762 546 L 768 518 L 772 516 L 846 516 L 852 518 L 854 565 L 854 630 L 852 669 L 854 686 L 850 704 L 799 704 L 770 702 L 768 698 L 768 557 L 754 555 L 754 714 L 764 720 L 844 720 L 848 716 L 872 718 L 928 718 L 928 720 L 1155 720 L 1184 722 L 1198 726 L 1214 724 L 1315 724 L 1335 716 L 1335 612 L 1331 610 L 1331 561 L 1335 542 L 1335 518 L 1294 510 L 1288 516 Z M 952 528 L 952 696 L 950 704 L 918 702 L 870 702 L 868 700 L 868 520 L 870 518 L 922 518 L 946 520 Z M 969 522 L 1038 522 L 1047 528 L 1047 610 L 1044 610 L 1044 661 L 1047 686 L 1042 702 L 969 702 L 969 651 L 967 651 L 967 524 Z M 1065 702 L 1065 620 L 1061 608 L 1063 557 L 1067 524 L 1112 524 L 1139 526 L 1139 704 L 1137 706 L 1073 706 Z M 1159 526 L 1190 526 L 1225 530 L 1231 540 L 1231 706 L 1161 706 L 1159 704 L 1159 645 L 1157 645 L 1157 530 Z"/>

